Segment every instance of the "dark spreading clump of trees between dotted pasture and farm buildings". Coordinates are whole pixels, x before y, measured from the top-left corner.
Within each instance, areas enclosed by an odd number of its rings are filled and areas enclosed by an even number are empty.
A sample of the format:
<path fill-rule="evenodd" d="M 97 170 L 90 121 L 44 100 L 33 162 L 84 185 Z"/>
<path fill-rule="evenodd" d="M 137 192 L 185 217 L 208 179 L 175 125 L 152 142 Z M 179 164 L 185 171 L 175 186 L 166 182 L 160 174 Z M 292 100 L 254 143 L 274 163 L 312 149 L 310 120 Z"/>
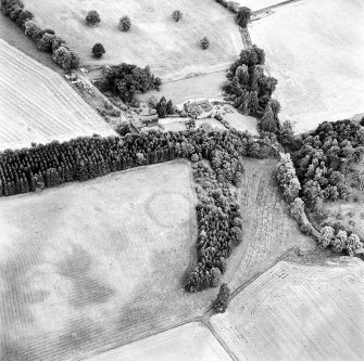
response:
<path fill-rule="evenodd" d="M 149 66 L 141 68 L 137 65 L 122 63 L 111 66 L 98 87 L 102 91 L 111 91 L 124 102 L 129 103 L 136 94 L 154 89 L 160 90 L 161 83 L 161 79 L 151 74 Z"/>

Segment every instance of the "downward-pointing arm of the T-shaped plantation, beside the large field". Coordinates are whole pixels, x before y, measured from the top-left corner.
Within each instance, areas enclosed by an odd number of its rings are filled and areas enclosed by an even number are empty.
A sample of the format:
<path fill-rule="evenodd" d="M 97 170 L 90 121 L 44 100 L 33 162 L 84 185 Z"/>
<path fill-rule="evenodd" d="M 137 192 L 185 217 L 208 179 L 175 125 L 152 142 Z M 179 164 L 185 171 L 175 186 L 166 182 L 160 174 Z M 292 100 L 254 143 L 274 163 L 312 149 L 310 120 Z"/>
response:
<path fill-rule="evenodd" d="M 233 156 L 226 150 L 218 150 L 218 152 Z M 189 292 L 216 287 L 222 274 L 226 271 L 226 258 L 242 238 L 240 207 L 236 195 L 230 190 L 230 179 L 225 177 L 229 172 L 242 173 L 242 159 L 231 163 L 229 170 L 221 172 L 219 177 L 215 170 L 222 170 L 221 165 L 211 162 L 211 166 L 212 169 L 202 162 L 192 165 L 193 180 L 198 184 L 199 234 L 198 265 L 191 271 L 185 286 Z"/>

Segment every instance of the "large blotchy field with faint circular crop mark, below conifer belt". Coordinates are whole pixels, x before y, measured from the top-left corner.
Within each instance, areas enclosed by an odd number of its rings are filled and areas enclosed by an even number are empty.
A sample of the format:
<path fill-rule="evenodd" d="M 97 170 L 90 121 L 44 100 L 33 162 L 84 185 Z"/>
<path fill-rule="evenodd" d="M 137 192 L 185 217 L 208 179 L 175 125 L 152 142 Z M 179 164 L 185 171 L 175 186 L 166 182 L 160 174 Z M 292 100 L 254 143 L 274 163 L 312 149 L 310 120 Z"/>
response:
<path fill-rule="evenodd" d="M 202 314 L 216 289 L 183 289 L 190 172 L 173 162 L 0 198 L 0 359 L 79 360 Z"/>

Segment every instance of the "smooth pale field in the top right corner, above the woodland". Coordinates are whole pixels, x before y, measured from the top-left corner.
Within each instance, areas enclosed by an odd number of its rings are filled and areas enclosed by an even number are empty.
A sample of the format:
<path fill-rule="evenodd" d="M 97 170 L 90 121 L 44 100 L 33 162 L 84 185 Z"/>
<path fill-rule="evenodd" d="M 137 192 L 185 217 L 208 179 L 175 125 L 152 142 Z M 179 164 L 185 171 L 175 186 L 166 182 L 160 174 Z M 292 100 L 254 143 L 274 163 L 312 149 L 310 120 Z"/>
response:
<path fill-rule="evenodd" d="M 364 112 L 363 13 L 361 0 L 302 0 L 250 25 L 297 132 Z"/>

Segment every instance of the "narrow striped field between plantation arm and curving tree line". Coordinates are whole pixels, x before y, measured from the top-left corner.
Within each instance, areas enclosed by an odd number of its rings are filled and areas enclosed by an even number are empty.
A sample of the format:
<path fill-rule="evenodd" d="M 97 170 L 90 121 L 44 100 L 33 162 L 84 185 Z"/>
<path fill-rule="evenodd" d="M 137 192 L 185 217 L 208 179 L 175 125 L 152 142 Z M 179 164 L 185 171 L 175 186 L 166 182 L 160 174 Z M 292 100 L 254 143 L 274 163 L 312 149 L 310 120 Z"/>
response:
<path fill-rule="evenodd" d="M 244 158 L 239 186 L 242 242 L 227 262 L 224 282 L 231 289 L 269 268 L 292 247 L 312 249 L 315 242 L 290 218 L 275 181 L 276 159 Z"/>

